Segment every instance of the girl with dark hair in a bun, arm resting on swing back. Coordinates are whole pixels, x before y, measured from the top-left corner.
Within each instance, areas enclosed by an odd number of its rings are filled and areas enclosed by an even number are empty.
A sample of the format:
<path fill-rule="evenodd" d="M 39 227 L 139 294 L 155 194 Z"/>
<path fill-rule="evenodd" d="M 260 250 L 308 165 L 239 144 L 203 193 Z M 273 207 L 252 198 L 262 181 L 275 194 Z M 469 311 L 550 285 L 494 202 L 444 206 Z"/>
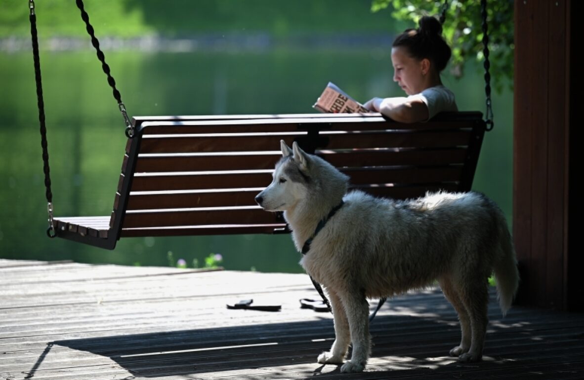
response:
<path fill-rule="evenodd" d="M 450 55 L 440 22 L 423 16 L 418 29 L 406 29 L 391 47 L 394 81 L 408 96 L 374 97 L 363 106 L 402 123 L 427 121 L 442 111 L 457 111 L 454 93 L 440 80 Z"/>

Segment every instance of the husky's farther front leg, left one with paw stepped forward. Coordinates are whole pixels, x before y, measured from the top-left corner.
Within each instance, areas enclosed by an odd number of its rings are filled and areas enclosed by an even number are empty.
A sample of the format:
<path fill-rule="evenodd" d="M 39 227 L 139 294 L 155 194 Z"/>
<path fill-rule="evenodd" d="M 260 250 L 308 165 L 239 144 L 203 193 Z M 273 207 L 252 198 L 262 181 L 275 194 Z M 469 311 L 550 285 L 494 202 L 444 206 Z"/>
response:
<path fill-rule="evenodd" d="M 318 355 L 318 362 L 321 364 L 343 364 L 351 343 L 349 322 L 347 321 L 345 308 L 343 308 L 340 298 L 335 292 L 329 291 L 329 301 L 331 301 L 335 323 L 335 341 L 332 344 L 331 351 L 325 351 Z"/>

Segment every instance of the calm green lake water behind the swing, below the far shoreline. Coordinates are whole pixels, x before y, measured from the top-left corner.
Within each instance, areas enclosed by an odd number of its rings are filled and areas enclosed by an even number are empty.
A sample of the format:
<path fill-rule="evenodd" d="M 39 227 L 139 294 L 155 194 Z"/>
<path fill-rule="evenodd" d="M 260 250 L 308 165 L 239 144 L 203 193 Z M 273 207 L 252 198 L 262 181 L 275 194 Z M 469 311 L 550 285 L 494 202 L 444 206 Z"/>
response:
<path fill-rule="evenodd" d="M 401 96 L 387 51 L 270 48 L 195 53 L 107 53 L 136 116 L 311 113 L 328 81 L 363 102 Z M 126 143 L 112 90 L 91 51 L 41 55 L 55 215 L 109 215 Z M 484 79 L 472 65 L 444 75 L 460 110 L 485 110 Z M 231 270 L 301 272 L 288 235 L 126 238 L 107 251 L 48 239 L 32 54 L 0 52 L 0 257 L 167 265 L 221 253 Z M 512 93 L 493 94 L 495 129 L 485 136 L 474 189 L 512 216 Z M 267 184 L 266 184 L 267 185 Z"/>

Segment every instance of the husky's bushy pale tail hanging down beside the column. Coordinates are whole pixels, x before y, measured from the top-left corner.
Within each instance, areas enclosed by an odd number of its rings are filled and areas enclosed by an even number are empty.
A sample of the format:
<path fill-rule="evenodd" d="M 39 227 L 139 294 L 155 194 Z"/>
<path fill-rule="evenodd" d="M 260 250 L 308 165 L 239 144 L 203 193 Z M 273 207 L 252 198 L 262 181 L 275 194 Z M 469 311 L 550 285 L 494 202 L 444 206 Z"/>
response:
<path fill-rule="evenodd" d="M 503 221 L 503 225 L 506 227 L 505 221 Z M 513 303 L 517 287 L 519 287 L 519 270 L 517 269 L 515 247 L 513 246 L 511 234 L 507 228 L 502 230 L 501 255 L 499 256 L 499 261 L 493 267 L 493 272 L 495 273 L 499 306 L 503 316 L 505 316 Z"/>

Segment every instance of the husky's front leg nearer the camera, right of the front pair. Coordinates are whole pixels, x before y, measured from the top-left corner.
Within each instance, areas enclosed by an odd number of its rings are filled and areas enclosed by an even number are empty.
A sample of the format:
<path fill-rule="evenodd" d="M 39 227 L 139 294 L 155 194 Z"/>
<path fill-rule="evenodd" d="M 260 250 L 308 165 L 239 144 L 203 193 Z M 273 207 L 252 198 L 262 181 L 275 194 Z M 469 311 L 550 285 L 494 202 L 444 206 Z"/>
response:
<path fill-rule="evenodd" d="M 371 352 L 371 336 L 369 335 L 369 304 L 361 292 L 350 292 L 343 295 L 353 353 L 351 360 L 340 367 L 340 372 L 361 372 L 365 369 Z"/>

